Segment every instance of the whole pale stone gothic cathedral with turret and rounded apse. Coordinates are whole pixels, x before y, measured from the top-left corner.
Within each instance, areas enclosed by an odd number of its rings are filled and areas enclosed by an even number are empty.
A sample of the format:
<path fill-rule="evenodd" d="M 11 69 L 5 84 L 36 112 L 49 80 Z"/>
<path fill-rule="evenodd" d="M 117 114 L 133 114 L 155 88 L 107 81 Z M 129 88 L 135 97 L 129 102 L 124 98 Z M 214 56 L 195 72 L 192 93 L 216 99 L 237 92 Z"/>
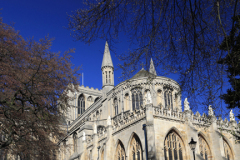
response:
<path fill-rule="evenodd" d="M 100 70 L 100 69 L 99 69 Z M 179 84 L 158 76 L 151 60 L 132 78 L 114 85 L 108 43 L 102 60 L 102 89 L 79 86 L 66 112 L 67 134 L 58 160 L 239 160 L 232 133 L 240 124 L 193 113 L 181 102 Z M 184 108 L 184 109 L 182 109 Z"/>

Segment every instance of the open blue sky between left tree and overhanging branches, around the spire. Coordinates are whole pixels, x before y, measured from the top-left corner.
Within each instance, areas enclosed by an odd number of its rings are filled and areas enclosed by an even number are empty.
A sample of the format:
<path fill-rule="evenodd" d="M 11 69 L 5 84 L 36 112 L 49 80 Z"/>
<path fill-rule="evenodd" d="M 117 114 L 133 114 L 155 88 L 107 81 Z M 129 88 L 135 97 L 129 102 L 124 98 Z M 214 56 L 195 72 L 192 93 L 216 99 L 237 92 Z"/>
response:
<path fill-rule="evenodd" d="M 84 73 L 84 86 L 101 89 L 101 63 L 105 41 L 98 40 L 87 45 L 75 41 L 70 36 L 70 31 L 66 29 L 68 26 L 67 14 L 71 14 L 72 11 L 81 7 L 81 0 L 2 0 L 0 16 L 4 23 L 14 23 L 15 30 L 20 31 L 20 35 L 25 39 L 34 37 L 38 41 L 47 35 L 54 38 L 51 48 L 53 52 L 64 52 L 75 48 L 76 51 L 72 54 L 72 63 L 75 66 L 81 66 L 80 72 Z M 124 43 L 120 42 L 117 46 L 117 54 L 128 50 L 124 48 Z M 121 76 L 121 72 L 116 70 L 118 59 L 113 53 L 111 56 L 115 67 L 116 85 L 119 83 L 117 77 Z"/>

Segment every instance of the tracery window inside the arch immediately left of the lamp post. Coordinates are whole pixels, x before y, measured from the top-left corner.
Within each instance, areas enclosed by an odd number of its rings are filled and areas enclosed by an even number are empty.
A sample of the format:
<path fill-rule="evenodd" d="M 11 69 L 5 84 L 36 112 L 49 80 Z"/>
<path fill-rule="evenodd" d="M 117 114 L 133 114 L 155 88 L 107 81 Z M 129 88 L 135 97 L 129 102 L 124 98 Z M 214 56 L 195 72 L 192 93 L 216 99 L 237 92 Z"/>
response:
<path fill-rule="evenodd" d="M 164 157 L 165 160 L 183 160 L 183 143 L 175 132 L 168 133 L 165 138 Z"/>

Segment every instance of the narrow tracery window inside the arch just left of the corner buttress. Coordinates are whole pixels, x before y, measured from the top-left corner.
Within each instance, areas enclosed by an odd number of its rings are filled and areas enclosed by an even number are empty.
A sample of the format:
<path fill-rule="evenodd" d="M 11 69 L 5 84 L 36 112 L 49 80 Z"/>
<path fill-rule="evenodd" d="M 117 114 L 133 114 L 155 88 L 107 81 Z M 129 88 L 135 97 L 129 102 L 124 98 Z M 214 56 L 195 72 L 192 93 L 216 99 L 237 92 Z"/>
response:
<path fill-rule="evenodd" d="M 130 160 L 142 160 L 142 145 L 139 138 L 134 135 L 130 143 Z"/>

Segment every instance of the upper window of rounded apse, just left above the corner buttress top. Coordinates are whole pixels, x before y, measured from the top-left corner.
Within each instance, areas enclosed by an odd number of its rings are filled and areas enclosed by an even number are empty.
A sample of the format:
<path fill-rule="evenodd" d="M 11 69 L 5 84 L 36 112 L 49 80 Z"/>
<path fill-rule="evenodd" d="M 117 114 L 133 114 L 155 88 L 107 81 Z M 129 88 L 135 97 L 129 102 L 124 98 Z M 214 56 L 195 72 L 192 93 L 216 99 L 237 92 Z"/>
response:
<path fill-rule="evenodd" d="M 142 106 L 142 91 L 140 88 L 132 90 L 132 110 L 139 109 Z"/>

